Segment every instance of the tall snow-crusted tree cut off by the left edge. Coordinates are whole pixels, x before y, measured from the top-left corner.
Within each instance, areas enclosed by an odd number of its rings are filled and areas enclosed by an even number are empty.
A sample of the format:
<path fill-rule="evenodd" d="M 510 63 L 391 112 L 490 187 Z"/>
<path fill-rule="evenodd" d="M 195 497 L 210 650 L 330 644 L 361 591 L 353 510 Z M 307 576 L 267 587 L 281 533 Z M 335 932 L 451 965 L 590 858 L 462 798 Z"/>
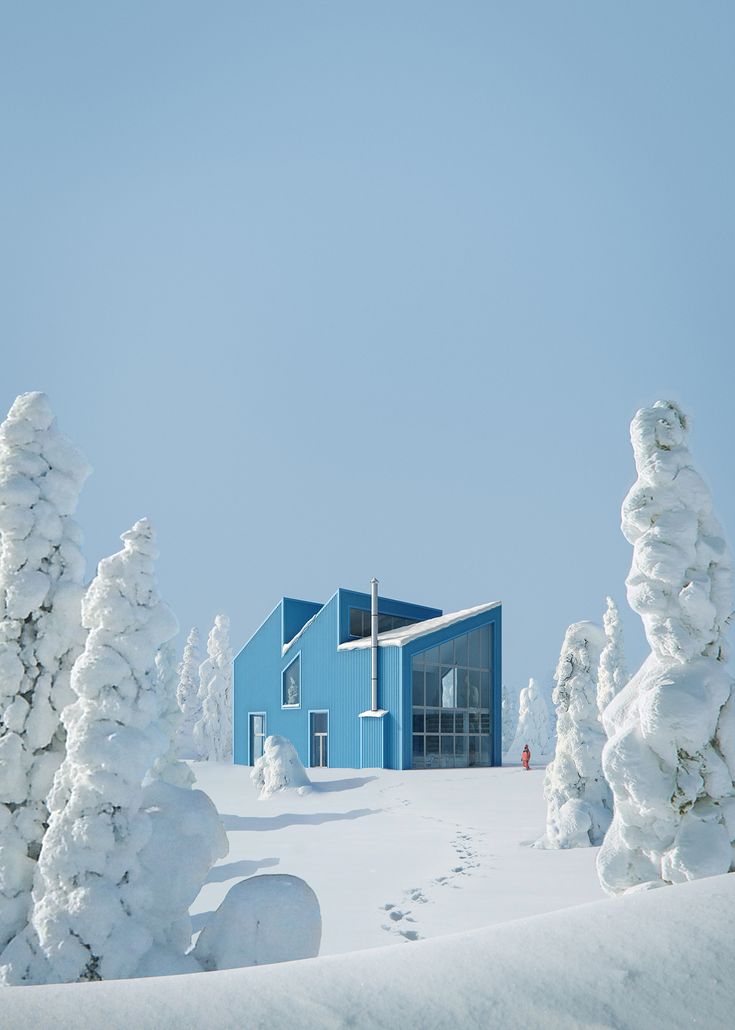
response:
<path fill-rule="evenodd" d="M 27 924 L 45 798 L 64 756 L 62 709 L 84 642 L 81 535 L 91 469 L 44 393 L 0 426 L 0 951 Z"/>

